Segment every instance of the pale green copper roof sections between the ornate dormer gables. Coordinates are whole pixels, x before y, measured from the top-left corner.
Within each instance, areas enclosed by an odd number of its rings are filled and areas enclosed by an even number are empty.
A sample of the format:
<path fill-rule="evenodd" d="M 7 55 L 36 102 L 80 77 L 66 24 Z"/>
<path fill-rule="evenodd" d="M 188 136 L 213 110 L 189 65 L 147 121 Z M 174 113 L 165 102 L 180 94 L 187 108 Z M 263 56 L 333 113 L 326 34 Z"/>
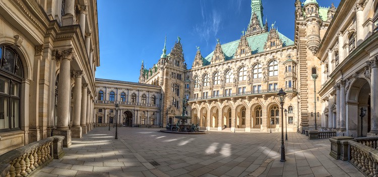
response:
<path fill-rule="evenodd" d="M 264 45 L 267 42 L 269 32 L 263 33 L 260 35 L 254 35 L 247 38 L 248 44 L 250 49 L 252 50 L 252 54 L 262 53 L 264 52 Z M 282 47 L 294 45 L 294 42 L 284 36 L 283 34 L 278 32 L 280 39 L 282 40 Z M 234 58 L 237 46 L 239 45 L 239 41 L 232 41 L 227 44 L 223 44 L 222 50 L 225 55 L 225 60 L 231 60 Z M 211 58 L 213 57 L 214 51 L 210 53 L 207 57 L 204 58 L 204 66 L 210 65 Z"/>

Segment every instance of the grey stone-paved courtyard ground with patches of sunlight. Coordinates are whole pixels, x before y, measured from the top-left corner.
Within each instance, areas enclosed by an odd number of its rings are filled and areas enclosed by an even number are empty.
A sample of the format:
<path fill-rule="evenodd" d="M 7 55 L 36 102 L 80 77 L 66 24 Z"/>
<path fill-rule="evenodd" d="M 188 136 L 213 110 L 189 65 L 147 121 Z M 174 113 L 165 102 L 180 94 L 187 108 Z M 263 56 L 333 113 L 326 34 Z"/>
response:
<path fill-rule="evenodd" d="M 281 134 L 175 134 L 156 128 L 98 127 L 73 139 L 66 155 L 34 176 L 364 176 L 330 155 L 328 139 L 308 140 L 290 132 L 286 162 L 280 161 Z"/>

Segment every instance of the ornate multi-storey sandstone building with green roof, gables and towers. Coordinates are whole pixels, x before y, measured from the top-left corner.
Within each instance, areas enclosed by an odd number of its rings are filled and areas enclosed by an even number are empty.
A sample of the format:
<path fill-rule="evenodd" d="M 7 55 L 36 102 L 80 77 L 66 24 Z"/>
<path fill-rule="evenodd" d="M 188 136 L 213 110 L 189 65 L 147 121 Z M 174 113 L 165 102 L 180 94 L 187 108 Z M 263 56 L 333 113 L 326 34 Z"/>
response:
<path fill-rule="evenodd" d="M 207 130 L 277 131 L 287 122 L 289 131 L 321 127 L 321 61 L 315 55 L 336 8 L 320 7 L 316 0 L 295 2 L 295 39 L 263 22 L 261 0 L 251 1 L 251 18 L 240 39 L 221 44 L 206 57 L 200 48 L 186 69 L 178 38 L 171 52 L 147 69 L 139 82 L 162 88 L 162 125 L 173 123 L 187 99 L 192 123 Z M 281 122 L 278 90 L 283 88 L 288 110 Z"/>

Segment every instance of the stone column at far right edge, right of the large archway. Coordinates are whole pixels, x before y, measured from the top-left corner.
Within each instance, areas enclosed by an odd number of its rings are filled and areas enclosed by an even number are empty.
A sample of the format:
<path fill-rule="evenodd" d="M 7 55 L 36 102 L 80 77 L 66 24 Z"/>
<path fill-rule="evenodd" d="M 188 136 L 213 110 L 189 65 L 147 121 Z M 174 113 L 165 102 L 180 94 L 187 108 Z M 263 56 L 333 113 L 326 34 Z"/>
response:
<path fill-rule="evenodd" d="M 370 112 L 371 127 L 367 136 L 378 135 L 378 56 L 368 63 L 371 68 L 370 76 Z"/>

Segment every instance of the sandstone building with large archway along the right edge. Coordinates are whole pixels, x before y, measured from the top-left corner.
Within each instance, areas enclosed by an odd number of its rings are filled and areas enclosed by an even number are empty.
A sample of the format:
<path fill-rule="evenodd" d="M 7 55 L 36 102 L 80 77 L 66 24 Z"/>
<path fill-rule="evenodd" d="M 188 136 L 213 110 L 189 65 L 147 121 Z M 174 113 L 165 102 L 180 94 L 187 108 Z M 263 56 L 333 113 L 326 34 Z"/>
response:
<path fill-rule="evenodd" d="M 316 53 L 325 129 L 353 137 L 378 134 L 377 27 L 378 1 L 341 1 Z"/>

